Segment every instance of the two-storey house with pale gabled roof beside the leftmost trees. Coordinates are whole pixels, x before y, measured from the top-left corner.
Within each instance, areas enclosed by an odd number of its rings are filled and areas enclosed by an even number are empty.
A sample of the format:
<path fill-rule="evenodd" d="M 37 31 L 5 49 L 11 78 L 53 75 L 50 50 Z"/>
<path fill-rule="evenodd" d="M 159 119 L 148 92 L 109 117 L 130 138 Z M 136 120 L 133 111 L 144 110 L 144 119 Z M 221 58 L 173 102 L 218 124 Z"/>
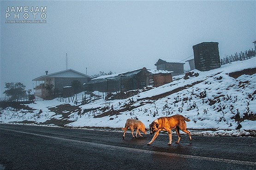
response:
<path fill-rule="evenodd" d="M 67 69 L 52 74 L 48 74 L 48 71 L 46 71 L 45 75 L 33 79 L 32 81 L 36 81 L 36 96 L 43 99 L 51 99 L 58 95 L 62 95 L 63 88 L 65 88 L 65 96 L 73 93 L 74 90 L 70 88 L 73 81 L 81 83 L 83 88 L 83 84 L 87 83 L 90 79 L 90 76 L 86 74 L 73 69 Z M 52 86 L 52 90 L 48 91 L 47 86 Z"/>

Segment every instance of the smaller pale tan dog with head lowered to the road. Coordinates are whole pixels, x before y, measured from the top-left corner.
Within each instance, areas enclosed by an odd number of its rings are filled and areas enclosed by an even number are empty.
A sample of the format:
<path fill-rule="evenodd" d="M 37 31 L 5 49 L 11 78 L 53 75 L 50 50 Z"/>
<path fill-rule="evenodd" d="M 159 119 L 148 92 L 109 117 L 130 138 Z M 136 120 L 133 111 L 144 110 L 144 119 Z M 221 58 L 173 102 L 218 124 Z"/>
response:
<path fill-rule="evenodd" d="M 140 121 L 140 120 L 136 120 L 136 119 L 127 119 L 126 123 L 125 123 L 125 128 L 122 128 L 122 130 L 124 131 L 124 135 L 123 135 L 123 139 L 125 139 L 125 132 L 128 130 L 128 127 L 131 129 L 131 135 L 133 138 L 137 138 L 137 133 L 139 134 L 139 136 L 143 137 L 139 130 L 141 130 L 145 135 L 147 135 L 147 130 L 145 128 L 145 125 Z M 136 135 L 135 137 L 133 136 L 133 129 L 136 129 Z"/>

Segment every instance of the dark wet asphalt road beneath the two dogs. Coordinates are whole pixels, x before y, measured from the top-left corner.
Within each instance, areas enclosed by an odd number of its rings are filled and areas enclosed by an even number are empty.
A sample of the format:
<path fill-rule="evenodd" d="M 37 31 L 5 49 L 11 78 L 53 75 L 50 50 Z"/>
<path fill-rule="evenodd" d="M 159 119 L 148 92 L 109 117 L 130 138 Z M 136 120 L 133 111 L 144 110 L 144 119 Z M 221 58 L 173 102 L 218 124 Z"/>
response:
<path fill-rule="evenodd" d="M 131 133 L 0 125 L 0 170 L 256 169 L 255 137 L 168 135 L 132 139 Z"/>

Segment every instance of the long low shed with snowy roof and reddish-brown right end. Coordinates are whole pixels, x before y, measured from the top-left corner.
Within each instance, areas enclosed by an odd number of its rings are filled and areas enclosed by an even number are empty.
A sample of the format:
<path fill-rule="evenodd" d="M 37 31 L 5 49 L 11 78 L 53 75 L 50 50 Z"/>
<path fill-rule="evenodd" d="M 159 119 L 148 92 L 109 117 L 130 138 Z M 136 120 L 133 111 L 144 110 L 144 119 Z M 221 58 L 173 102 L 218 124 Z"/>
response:
<path fill-rule="evenodd" d="M 158 87 L 173 81 L 172 73 L 164 70 L 142 68 L 122 74 L 100 76 L 85 83 L 87 91 L 118 92 L 142 89 L 152 85 Z"/>

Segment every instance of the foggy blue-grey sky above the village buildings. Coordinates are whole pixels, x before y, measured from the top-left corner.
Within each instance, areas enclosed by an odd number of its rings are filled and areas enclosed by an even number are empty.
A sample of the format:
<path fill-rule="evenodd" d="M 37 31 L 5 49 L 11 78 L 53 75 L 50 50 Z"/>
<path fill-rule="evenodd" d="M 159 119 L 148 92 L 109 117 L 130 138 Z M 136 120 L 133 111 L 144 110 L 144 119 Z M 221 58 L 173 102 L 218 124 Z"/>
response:
<path fill-rule="evenodd" d="M 256 40 L 254 0 L 0 3 L 1 96 L 5 82 L 32 89 L 46 70 L 65 70 L 66 53 L 68 68 L 94 75 L 156 69 L 159 58 L 184 60 L 205 41 L 219 42 L 222 58 L 254 48 Z M 47 6 L 47 23 L 6 23 L 7 6 Z"/>

